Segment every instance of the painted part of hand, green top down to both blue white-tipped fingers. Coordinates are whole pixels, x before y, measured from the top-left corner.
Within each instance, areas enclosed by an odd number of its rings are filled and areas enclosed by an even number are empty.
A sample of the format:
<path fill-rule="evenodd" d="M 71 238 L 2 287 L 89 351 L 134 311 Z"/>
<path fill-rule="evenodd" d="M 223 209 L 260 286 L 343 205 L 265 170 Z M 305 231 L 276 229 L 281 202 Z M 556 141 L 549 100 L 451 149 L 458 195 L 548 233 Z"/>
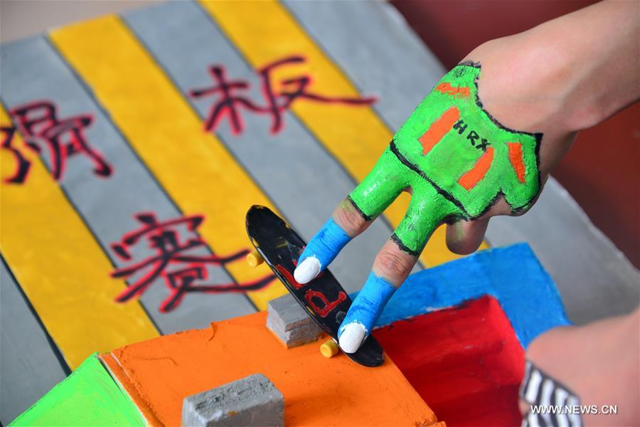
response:
<path fill-rule="evenodd" d="M 503 127 L 482 108 L 477 94 L 480 70 L 479 64 L 463 63 L 442 78 L 299 258 L 295 278 L 308 283 L 402 191 L 411 192 L 405 217 L 378 253 L 338 331 L 345 352 L 355 352 L 366 339 L 443 221 L 480 218 L 498 199 L 517 214 L 538 194 L 542 135 Z M 449 234 L 449 240 L 455 240 L 456 233 Z M 482 234 L 484 228 L 472 250 Z"/>

